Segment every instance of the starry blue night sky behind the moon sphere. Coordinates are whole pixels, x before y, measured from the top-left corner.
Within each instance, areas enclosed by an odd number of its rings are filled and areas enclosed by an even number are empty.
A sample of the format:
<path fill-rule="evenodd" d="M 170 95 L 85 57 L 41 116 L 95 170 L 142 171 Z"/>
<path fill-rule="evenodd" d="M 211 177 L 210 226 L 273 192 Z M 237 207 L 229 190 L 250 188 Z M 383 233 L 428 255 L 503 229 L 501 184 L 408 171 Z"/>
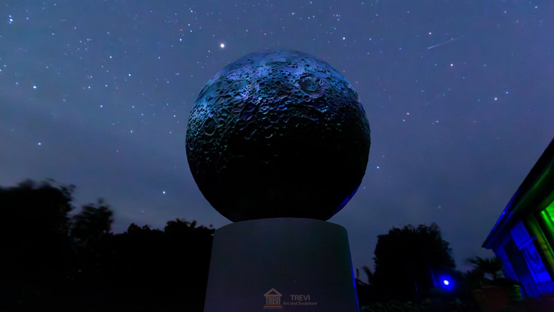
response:
<path fill-rule="evenodd" d="M 74 184 L 77 207 L 107 200 L 114 232 L 230 223 L 193 181 L 186 122 L 212 75 L 273 48 L 325 60 L 364 103 L 366 176 L 330 219 L 354 268 L 409 223 L 438 223 L 458 268 L 492 255 L 554 136 L 550 0 L 3 1 L 0 185 Z"/>

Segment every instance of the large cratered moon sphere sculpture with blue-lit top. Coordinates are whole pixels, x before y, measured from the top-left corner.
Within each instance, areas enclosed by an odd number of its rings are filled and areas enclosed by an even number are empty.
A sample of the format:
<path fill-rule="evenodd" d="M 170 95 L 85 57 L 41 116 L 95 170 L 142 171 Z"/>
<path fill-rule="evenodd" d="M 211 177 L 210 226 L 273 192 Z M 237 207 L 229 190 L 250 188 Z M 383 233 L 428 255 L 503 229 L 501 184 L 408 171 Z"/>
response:
<path fill-rule="evenodd" d="M 186 131 L 193 177 L 231 221 L 329 219 L 359 187 L 369 147 L 356 91 L 298 51 L 252 53 L 225 66 L 198 95 Z"/>

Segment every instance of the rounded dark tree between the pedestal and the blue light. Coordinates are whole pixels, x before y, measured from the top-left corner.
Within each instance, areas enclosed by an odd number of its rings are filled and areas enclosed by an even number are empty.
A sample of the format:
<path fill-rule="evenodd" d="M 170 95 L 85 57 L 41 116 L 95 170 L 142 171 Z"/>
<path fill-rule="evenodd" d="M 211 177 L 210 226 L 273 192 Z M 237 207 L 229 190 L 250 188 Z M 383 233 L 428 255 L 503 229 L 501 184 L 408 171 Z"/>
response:
<path fill-rule="evenodd" d="M 373 279 L 384 297 L 408 300 L 436 286 L 441 274 L 455 268 L 452 248 L 436 223 L 393 228 L 379 235 Z"/>

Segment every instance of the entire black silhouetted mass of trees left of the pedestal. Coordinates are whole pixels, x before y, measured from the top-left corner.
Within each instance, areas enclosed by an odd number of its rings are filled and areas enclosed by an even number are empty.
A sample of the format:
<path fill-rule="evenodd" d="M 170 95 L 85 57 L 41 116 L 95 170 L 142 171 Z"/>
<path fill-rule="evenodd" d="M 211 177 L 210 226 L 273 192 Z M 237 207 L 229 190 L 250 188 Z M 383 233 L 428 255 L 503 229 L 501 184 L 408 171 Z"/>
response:
<path fill-rule="evenodd" d="M 0 311 L 202 311 L 213 228 L 175 219 L 113 234 L 102 199 L 69 217 L 73 189 L 0 187 Z"/>

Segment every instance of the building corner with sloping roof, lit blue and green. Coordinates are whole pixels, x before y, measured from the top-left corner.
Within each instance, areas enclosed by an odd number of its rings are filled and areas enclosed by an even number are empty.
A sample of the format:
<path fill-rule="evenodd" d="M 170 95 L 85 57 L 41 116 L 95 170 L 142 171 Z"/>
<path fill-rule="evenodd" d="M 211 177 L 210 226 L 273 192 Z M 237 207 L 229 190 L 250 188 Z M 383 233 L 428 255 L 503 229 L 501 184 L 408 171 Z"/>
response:
<path fill-rule="evenodd" d="M 483 248 L 504 264 L 524 294 L 554 293 L 554 139 L 519 186 Z"/>

